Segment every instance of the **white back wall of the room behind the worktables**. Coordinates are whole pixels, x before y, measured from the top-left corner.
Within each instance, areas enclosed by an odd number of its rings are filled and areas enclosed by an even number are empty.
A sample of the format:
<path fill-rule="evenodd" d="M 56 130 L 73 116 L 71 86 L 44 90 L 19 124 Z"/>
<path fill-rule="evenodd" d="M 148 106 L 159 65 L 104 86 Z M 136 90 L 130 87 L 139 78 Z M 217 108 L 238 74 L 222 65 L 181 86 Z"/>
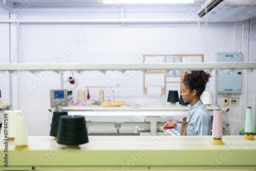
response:
<path fill-rule="evenodd" d="M 144 7 L 143 7 L 144 8 Z M 188 9 L 183 11 L 162 8 L 153 10 L 145 7 L 147 13 L 141 13 L 143 9 L 132 7 L 124 9 L 125 17 L 135 18 L 196 18 L 189 15 Z M 175 8 L 173 8 L 175 9 Z M 153 10 L 153 12 L 152 12 Z M 193 11 L 190 9 L 190 12 Z M 134 15 L 139 13 L 139 15 Z M 144 15 L 143 15 L 144 14 Z M 173 15 L 172 15 L 173 14 Z M 118 7 L 104 8 L 27 8 L 18 14 L 22 19 L 45 18 L 119 18 Z M 2 28 L 7 24 L 0 24 L 0 32 L 8 33 L 8 29 Z M 15 42 L 16 26 L 11 24 L 11 58 L 16 50 Z M 200 30 L 205 41 L 208 55 L 203 44 Z M 108 63 L 108 62 L 142 62 L 145 54 L 204 54 L 204 61 L 215 60 L 216 52 L 234 52 L 234 24 L 233 23 L 208 23 L 205 29 L 197 23 L 172 23 L 172 24 L 20 24 L 18 62 L 20 63 Z M 77 37 L 84 37 L 81 44 L 72 49 Z M 228 40 L 228 41 L 227 41 Z M 8 45 L 2 47 L 9 49 Z M 65 52 L 65 49 L 68 49 Z M 66 54 L 65 54 L 66 53 Z M 8 56 L 1 59 L 6 59 Z M 9 58 L 8 58 L 9 60 Z M 7 60 L 7 62 L 8 62 Z M 104 90 L 105 96 L 111 89 L 118 90 L 116 100 L 126 103 L 156 104 L 166 103 L 165 95 L 151 98 L 143 95 L 143 73 L 109 71 L 84 72 L 81 75 L 74 73 L 79 80 L 79 87 L 84 86 L 108 86 Z M 64 79 L 71 72 L 64 73 Z M 2 74 L 1 74 L 2 76 Z M 212 73 L 214 76 L 214 73 Z M 60 88 L 60 77 L 54 72 L 41 72 L 31 74 L 23 72 L 18 74 L 17 94 L 14 94 L 14 109 L 20 109 L 26 116 L 29 135 L 49 135 L 50 89 Z M 206 90 L 214 92 L 214 77 L 210 79 Z M 119 85 L 119 86 L 118 86 Z M 15 88 L 14 88 L 15 89 Z M 16 89 L 15 89 L 16 90 Z M 98 99 L 99 89 L 90 89 L 92 99 Z M 254 94 L 255 95 L 255 94 Z M 220 100 L 219 100 L 220 101 Z M 238 106 L 237 108 L 238 109 Z M 230 112 L 236 113 L 237 110 Z M 118 118 L 119 121 L 130 121 L 134 118 Z M 141 118 L 139 118 L 140 120 Z M 122 131 L 122 130 L 121 130 Z M 125 131 L 124 131 L 125 132 Z"/>

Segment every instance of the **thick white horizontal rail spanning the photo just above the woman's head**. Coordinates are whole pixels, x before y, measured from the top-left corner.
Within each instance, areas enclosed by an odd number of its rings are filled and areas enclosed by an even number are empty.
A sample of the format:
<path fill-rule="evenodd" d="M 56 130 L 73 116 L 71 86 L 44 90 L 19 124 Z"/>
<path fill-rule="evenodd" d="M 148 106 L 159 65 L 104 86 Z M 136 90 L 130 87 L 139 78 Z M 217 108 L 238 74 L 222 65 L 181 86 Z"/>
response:
<path fill-rule="evenodd" d="M 7 63 L 0 71 L 105 71 L 105 70 L 255 70 L 256 62 L 199 62 L 199 63 Z"/>

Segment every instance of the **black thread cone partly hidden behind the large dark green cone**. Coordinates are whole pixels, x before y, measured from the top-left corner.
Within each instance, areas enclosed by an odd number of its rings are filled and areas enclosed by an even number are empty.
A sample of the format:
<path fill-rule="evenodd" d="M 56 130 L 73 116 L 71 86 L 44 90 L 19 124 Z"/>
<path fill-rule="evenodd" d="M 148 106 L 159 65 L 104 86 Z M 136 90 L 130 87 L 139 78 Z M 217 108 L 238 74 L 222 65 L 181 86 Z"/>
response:
<path fill-rule="evenodd" d="M 58 126 L 59 126 L 59 118 L 62 115 L 68 115 L 68 112 L 67 111 L 61 111 L 61 112 L 54 111 L 53 112 L 50 136 L 57 137 Z"/>

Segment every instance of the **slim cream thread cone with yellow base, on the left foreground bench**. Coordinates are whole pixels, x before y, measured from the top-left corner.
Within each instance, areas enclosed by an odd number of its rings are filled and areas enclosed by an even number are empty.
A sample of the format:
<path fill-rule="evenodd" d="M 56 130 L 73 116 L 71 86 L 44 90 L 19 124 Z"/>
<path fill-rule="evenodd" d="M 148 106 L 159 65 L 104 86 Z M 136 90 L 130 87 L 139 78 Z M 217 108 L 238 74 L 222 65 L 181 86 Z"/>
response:
<path fill-rule="evenodd" d="M 25 118 L 22 115 L 18 116 L 17 131 L 14 140 L 14 149 L 23 150 L 28 149 L 28 132 L 26 127 Z"/>

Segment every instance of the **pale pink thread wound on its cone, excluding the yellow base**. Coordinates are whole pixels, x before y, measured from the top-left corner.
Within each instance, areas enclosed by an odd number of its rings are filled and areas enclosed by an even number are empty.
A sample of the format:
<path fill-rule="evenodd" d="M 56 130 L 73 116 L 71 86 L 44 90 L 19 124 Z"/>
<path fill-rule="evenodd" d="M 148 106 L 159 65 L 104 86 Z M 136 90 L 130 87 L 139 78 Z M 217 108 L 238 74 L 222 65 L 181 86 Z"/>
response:
<path fill-rule="evenodd" d="M 214 120 L 212 121 L 212 137 L 221 139 L 222 130 L 222 114 L 221 110 L 214 110 Z"/>

